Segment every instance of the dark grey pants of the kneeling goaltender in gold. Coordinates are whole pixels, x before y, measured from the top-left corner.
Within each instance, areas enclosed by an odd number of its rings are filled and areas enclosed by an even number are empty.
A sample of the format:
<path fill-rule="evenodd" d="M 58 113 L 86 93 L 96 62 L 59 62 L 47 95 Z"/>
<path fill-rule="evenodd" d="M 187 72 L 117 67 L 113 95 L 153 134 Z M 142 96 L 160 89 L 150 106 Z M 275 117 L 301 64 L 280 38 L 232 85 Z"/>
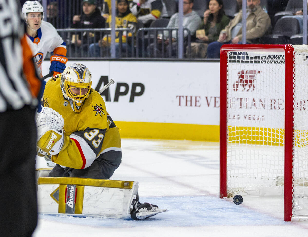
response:
<path fill-rule="evenodd" d="M 121 160 L 122 152 L 109 151 L 101 154 L 85 169 L 62 168 L 57 164 L 48 176 L 109 179 L 121 164 Z"/>

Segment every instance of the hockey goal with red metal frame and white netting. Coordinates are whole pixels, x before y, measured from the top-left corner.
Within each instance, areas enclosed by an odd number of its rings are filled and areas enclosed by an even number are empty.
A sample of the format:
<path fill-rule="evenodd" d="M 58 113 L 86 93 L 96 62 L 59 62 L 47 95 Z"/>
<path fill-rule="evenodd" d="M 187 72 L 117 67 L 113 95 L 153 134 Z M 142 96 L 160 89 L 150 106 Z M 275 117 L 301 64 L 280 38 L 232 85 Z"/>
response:
<path fill-rule="evenodd" d="M 221 47 L 220 198 L 284 188 L 284 220 L 308 219 L 307 59 L 307 45 Z"/>

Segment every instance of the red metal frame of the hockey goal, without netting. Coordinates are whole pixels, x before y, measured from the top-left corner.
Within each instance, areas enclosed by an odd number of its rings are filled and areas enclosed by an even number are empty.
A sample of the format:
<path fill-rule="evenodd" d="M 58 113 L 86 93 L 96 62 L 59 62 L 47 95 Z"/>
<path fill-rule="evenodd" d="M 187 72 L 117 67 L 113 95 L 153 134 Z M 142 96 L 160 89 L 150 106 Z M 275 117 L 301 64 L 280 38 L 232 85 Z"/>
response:
<path fill-rule="evenodd" d="M 284 220 L 291 221 L 293 195 L 294 48 L 292 45 L 223 45 L 220 51 L 220 198 L 227 197 L 227 73 L 228 52 L 285 53 L 285 187 Z"/>

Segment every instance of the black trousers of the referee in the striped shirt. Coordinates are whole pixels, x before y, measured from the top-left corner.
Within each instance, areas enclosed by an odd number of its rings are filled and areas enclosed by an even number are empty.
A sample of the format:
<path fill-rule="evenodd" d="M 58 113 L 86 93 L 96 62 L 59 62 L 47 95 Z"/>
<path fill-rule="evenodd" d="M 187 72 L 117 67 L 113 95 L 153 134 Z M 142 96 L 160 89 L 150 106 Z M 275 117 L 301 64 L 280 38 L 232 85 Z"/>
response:
<path fill-rule="evenodd" d="M 0 236 L 31 236 L 37 225 L 34 109 L 0 113 Z"/>

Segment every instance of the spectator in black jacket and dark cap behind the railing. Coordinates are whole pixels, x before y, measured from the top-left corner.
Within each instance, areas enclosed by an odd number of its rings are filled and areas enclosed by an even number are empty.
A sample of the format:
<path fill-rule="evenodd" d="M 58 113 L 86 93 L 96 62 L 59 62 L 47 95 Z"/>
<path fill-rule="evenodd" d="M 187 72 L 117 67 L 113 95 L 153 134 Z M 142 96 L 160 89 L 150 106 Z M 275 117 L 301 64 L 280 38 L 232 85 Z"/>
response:
<path fill-rule="evenodd" d="M 75 15 L 73 17 L 72 29 L 85 29 L 85 28 L 105 28 L 106 20 L 100 14 L 97 8 L 96 0 L 82 0 L 82 10 L 83 15 Z M 81 36 L 82 34 L 82 36 Z M 71 45 L 69 47 L 70 53 L 68 55 L 80 57 L 81 51 L 83 50 L 83 55 L 87 56 L 88 45 L 87 41 L 89 39 L 90 43 L 98 42 L 100 38 L 99 32 L 79 32 L 78 34 L 73 34 Z M 83 41 L 82 41 L 83 39 Z M 77 48 L 77 50 L 75 50 Z"/>

